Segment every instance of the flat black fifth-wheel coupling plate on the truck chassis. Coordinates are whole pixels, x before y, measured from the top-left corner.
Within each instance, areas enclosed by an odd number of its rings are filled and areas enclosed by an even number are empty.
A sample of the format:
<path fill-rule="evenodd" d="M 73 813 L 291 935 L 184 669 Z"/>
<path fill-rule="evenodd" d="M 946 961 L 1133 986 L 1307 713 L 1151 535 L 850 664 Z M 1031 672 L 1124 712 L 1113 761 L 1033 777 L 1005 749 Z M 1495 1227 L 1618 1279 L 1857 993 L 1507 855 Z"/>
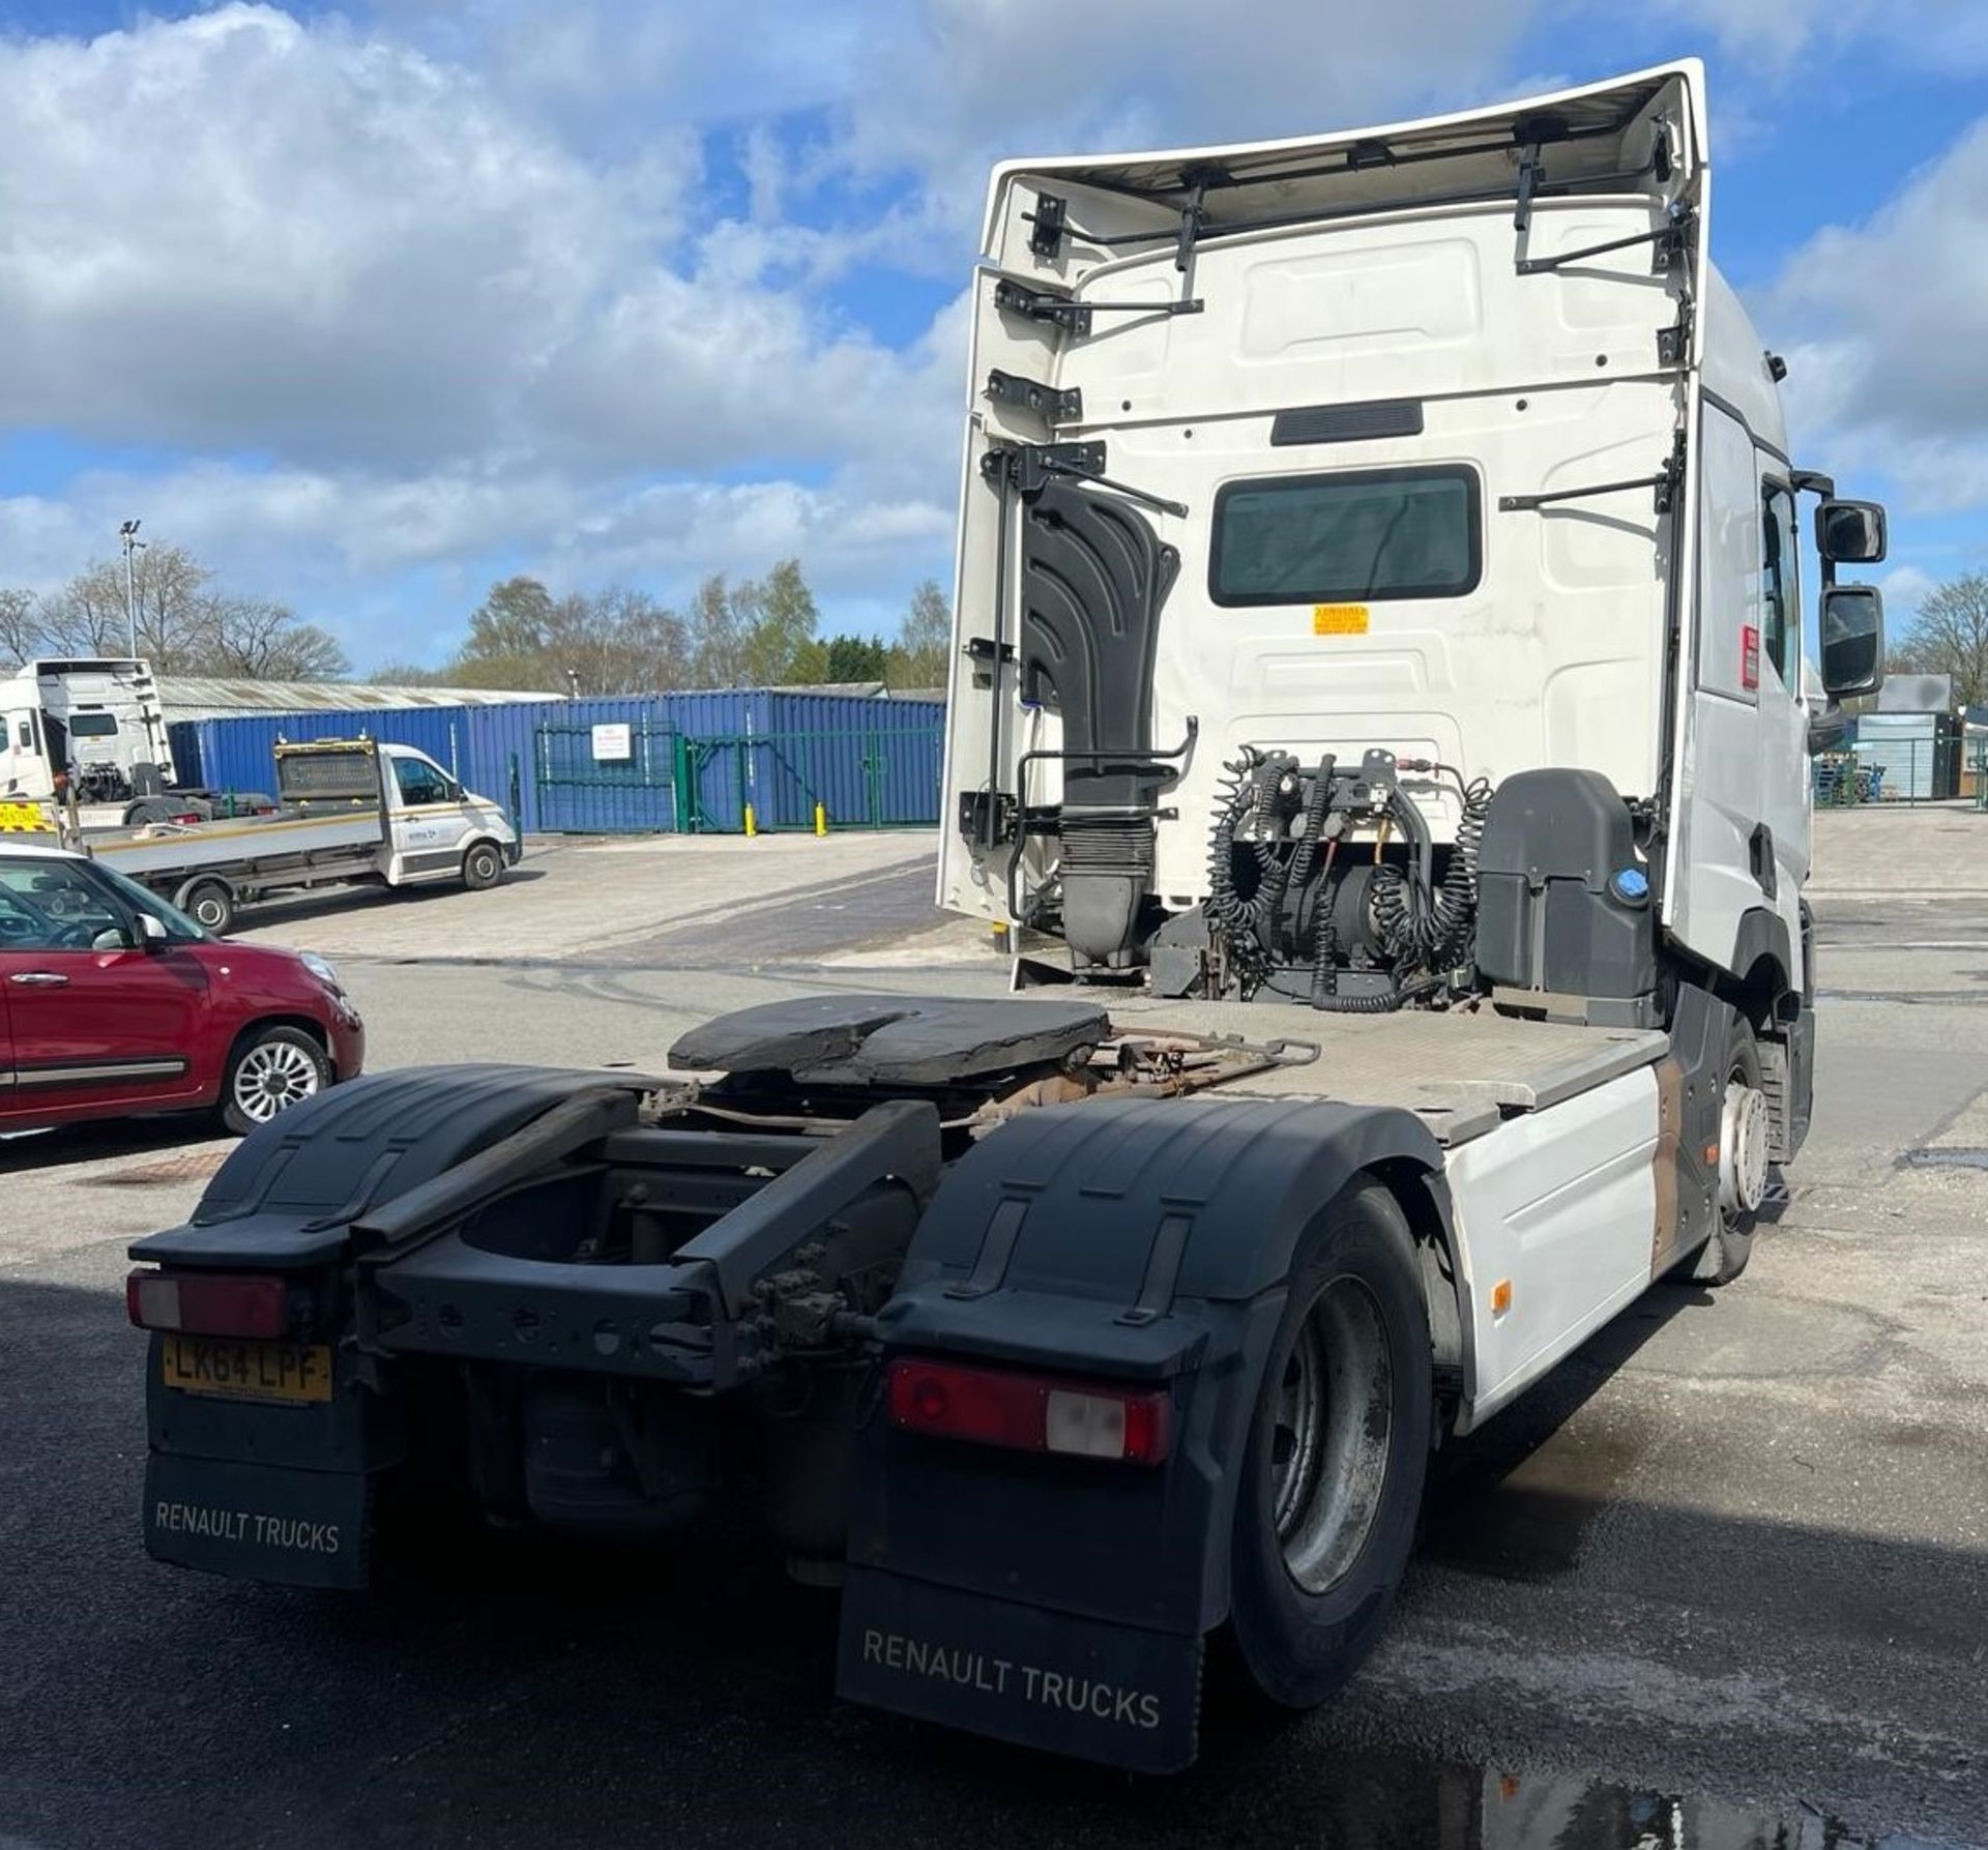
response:
<path fill-rule="evenodd" d="M 1085 1002 L 801 996 L 690 1029 L 678 1071 L 789 1073 L 821 1085 L 954 1085 L 1062 1065 L 1111 1025 Z"/>

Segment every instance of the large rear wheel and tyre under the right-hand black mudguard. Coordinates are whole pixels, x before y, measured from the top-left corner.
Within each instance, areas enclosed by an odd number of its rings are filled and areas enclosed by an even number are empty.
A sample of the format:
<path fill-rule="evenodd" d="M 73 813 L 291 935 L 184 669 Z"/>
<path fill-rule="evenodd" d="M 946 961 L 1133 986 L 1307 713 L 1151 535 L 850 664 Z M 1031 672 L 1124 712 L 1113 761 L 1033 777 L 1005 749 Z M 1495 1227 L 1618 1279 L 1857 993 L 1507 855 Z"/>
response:
<path fill-rule="evenodd" d="M 1256 1395 L 1231 1550 L 1231 1627 L 1256 1687 L 1326 1701 L 1380 1633 L 1429 1465 L 1433 1361 L 1415 1242 L 1378 1182 L 1298 1246 Z"/>

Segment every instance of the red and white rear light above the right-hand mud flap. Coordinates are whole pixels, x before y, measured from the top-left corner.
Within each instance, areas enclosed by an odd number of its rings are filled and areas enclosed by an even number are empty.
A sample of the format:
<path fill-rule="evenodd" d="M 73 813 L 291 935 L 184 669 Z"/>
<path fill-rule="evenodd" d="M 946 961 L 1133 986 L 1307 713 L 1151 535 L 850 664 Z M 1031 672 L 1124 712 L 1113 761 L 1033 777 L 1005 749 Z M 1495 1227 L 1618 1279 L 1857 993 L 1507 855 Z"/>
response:
<path fill-rule="evenodd" d="M 1010 1451 L 1159 1465 L 1173 1439 L 1165 1389 L 903 1359 L 891 1363 L 889 1397 L 891 1423 L 907 1433 Z"/>

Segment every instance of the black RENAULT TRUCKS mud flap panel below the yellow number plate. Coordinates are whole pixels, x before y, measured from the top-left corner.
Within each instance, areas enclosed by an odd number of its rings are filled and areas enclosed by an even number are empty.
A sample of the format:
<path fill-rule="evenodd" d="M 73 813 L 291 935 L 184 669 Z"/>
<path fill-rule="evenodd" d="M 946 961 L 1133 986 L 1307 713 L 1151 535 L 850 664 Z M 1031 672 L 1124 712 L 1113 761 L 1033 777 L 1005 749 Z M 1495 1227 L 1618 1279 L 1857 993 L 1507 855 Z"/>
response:
<path fill-rule="evenodd" d="M 145 1552 L 179 1568 L 282 1586 L 366 1586 L 372 1478 L 153 1453 Z"/>

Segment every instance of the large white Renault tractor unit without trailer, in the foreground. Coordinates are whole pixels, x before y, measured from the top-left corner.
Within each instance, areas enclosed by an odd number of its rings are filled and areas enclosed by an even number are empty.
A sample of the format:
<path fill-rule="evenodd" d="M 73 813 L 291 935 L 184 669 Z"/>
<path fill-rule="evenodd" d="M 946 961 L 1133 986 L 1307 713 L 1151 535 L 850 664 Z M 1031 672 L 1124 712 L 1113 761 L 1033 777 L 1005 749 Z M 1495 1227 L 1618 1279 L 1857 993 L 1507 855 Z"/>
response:
<path fill-rule="evenodd" d="M 147 1548 L 358 1588 L 439 1484 L 747 1502 L 857 1701 L 1163 1771 L 1217 1631 L 1330 1697 L 1431 1445 L 1734 1278 L 1807 1131 L 1803 578 L 1869 692 L 1885 525 L 1710 181 L 1690 62 L 1000 167 L 938 892 L 1060 988 L 278 1119 L 133 1248 Z"/>

